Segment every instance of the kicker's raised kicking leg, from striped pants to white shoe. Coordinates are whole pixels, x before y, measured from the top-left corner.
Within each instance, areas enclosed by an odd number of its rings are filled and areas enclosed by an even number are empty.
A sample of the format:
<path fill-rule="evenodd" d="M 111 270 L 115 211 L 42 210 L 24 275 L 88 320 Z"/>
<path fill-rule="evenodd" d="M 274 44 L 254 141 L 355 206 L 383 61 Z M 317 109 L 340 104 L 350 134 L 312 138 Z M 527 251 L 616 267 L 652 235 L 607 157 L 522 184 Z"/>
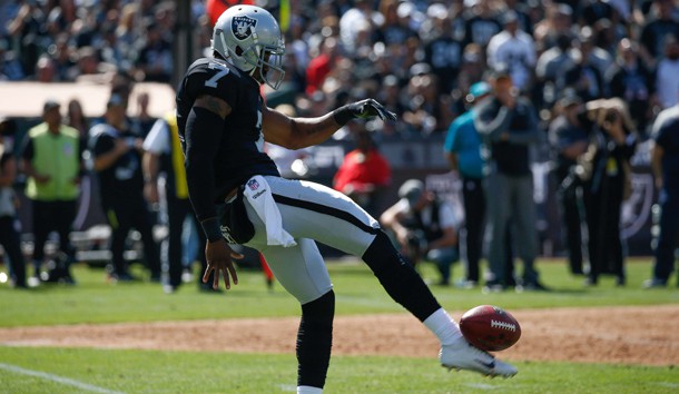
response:
<path fill-rule="evenodd" d="M 316 239 L 337 249 L 361 256 L 373 270 L 387 294 L 423 322 L 423 324 L 439 337 L 442 345 L 445 345 L 445 347 L 442 348 L 443 365 L 451 368 L 471 370 L 484 375 L 511 376 L 515 374 L 515 368 L 509 364 L 494 361 L 488 353 L 473 347 L 471 351 L 466 351 L 465 347 L 462 347 L 465 351 L 462 352 L 460 346 L 455 346 L 455 344 L 462 341 L 462 343 L 469 347 L 466 341 L 462 338 L 457 325 L 450 318 L 445 311 L 441 308 L 430 288 L 422 280 L 422 277 L 403 259 L 386 234 L 380 228 L 376 220 L 361 209 L 355 203 L 335 190 L 313 183 L 291 181 L 277 178 L 270 179 L 269 185 L 274 193 L 276 204 L 279 207 L 285 229 L 292 234 L 296 240 L 312 243 L 314 247 L 315 244 L 313 240 L 305 238 Z M 252 207 L 246 204 L 246 208 L 248 209 L 248 216 L 253 219 L 253 213 L 250 211 Z M 253 224 L 255 225 L 257 233 L 255 238 L 262 242 L 264 226 L 257 218 L 253 219 Z M 313 294 L 313 292 L 309 292 L 311 288 L 308 286 L 306 286 L 307 290 L 301 293 L 299 288 L 295 290 L 295 288 L 299 286 L 299 283 L 297 283 L 298 277 L 297 274 L 294 273 L 295 270 L 291 270 L 291 263 L 294 265 L 294 262 L 298 258 L 278 255 L 277 258 L 272 256 L 269 259 L 269 250 L 275 250 L 276 254 L 287 254 L 289 249 L 296 248 L 297 247 L 267 248 L 264 246 L 263 253 L 267 260 L 270 260 L 272 270 L 276 277 L 279 278 L 282 286 L 293 295 L 297 292 L 298 294 L 295 295 L 297 299 L 301 299 L 302 304 L 306 304 L 306 302 L 316 299 L 325 293 L 308 298 L 308 296 Z M 323 264 L 319 254 L 312 255 L 318 256 L 321 264 Z M 305 255 L 304 258 L 309 259 L 309 256 Z M 312 266 L 315 267 L 317 264 L 313 264 Z M 283 280 L 281 280 L 281 274 L 278 273 L 281 269 L 283 269 L 283 273 L 286 275 L 292 274 L 292 277 L 287 279 L 283 278 Z M 324 272 L 327 274 L 327 270 Z M 297 273 L 301 272 L 297 270 Z M 295 280 L 294 277 L 297 277 L 297 279 Z M 329 284 L 329 278 L 327 280 Z M 288 285 L 286 285 L 286 283 Z M 303 286 L 301 288 L 305 287 Z M 302 301 L 303 298 L 305 298 L 306 302 Z M 465 361 L 469 354 L 475 354 L 474 351 L 490 357 L 490 359 L 494 362 L 494 366 L 482 368 L 475 364 L 469 365 Z M 453 359 L 452 362 L 449 362 L 449 354 L 455 354 L 455 357 L 462 358 L 462 361 Z M 450 365 L 444 364 L 444 361 Z M 488 365 L 490 361 L 485 361 L 488 362 Z"/>

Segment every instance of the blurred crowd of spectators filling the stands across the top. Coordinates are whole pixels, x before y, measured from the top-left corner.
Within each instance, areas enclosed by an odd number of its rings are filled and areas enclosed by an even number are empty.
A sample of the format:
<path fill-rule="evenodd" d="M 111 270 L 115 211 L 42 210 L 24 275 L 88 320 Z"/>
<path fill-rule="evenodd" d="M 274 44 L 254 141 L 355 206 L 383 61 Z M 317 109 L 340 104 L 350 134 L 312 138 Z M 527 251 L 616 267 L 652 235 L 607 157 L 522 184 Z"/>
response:
<path fill-rule="evenodd" d="M 209 3 L 210 1 L 208 1 Z M 285 31 L 287 83 L 274 100 L 301 115 L 375 97 L 400 119 L 385 134 L 444 131 L 488 68 L 551 118 L 559 92 L 584 100 L 620 97 L 640 132 L 677 102 L 676 0 L 291 0 Z M 204 1 L 191 2 L 195 52 L 209 48 Z M 173 82 L 175 1 L 30 0 L 0 6 L 0 79 Z M 183 71 L 183 70 L 179 70 Z M 286 95 L 287 93 L 287 95 Z"/>

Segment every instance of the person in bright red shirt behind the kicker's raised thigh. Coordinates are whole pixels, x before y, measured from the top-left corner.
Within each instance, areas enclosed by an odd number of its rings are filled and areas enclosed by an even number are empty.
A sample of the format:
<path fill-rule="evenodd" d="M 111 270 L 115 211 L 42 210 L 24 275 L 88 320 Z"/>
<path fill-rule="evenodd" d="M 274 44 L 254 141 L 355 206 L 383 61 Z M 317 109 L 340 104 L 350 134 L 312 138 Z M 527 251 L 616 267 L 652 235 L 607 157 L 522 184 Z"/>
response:
<path fill-rule="evenodd" d="M 372 132 L 365 128 L 354 132 L 356 147 L 344 156 L 333 178 L 333 188 L 376 216 L 380 196 L 391 184 L 392 169 L 388 160 L 377 150 Z"/>

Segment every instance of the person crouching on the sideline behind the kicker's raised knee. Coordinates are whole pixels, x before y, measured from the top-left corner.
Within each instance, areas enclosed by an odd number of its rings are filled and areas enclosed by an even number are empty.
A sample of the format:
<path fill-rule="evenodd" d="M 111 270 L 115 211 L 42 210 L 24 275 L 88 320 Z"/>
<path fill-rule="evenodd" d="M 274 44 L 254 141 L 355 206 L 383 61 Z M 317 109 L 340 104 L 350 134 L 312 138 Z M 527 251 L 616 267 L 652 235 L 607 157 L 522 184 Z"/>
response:
<path fill-rule="evenodd" d="M 436 264 L 441 286 L 451 279 L 451 265 L 457 260 L 456 218 L 452 206 L 424 189 L 417 179 L 406 180 L 398 189 L 401 198 L 387 208 L 380 221 L 397 240 L 401 253 L 413 266 L 421 259 Z"/>

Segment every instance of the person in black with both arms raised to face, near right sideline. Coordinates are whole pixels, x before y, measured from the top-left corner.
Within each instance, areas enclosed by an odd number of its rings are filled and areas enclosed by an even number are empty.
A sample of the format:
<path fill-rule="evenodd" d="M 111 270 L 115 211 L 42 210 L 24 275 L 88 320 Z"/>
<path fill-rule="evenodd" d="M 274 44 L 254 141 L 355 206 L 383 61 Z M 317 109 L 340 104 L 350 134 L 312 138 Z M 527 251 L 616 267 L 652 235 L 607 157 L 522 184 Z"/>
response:
<path fill-rule="evenodd" d="M 613 274 L 616 285 L 624 286 L 620 207 L 631 191 L 634 126 L 627 106 L 618 98 L 590 101 L 587 108 L 594 125 L 578 168 L 584 180 L 589 233 L 590 272 L 585 285 L 597 285 L 600 274 Z"/>

